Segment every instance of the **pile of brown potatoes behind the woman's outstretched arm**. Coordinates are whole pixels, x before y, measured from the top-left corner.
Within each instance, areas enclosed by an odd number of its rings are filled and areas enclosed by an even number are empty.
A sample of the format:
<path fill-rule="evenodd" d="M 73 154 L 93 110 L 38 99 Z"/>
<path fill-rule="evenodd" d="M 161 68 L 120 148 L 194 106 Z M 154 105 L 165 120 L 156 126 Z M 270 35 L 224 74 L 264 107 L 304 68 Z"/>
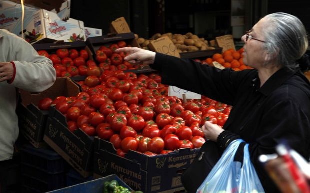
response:
<path fill-rule="evenodd" d="M 188 32 L 184 35 L 172 34 L 170 32 L 165 33 L 165 34 L 156 33 L 149 40 L 141 38 L 137 34 L 135 34 L 135 38 L 137 39 L 137 42 L 143 49 L 148 49 L 147 45 L 149 44 L 151 40 L 156 40 L 163 36 L 167 36 L 172 40 L 172 42 L 175 44 L 176 48 L 178 49 L 179 53 L 215 49 L 213 46 L 209 46 L 207 40 L 204 40 L 204 38 L 199 38 L 197 35 L 194 35 L 191 32 Z"/>

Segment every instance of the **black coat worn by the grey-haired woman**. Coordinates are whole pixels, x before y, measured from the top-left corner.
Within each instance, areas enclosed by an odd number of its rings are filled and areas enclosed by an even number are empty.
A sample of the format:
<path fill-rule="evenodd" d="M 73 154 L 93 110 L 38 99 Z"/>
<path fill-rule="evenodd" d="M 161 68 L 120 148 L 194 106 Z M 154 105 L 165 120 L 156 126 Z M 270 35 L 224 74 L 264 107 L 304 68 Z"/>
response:
<path fill-rule="evenodd" d="M 279 190 L 258 161 L 259 155 L 274 153 L 284 139 L 309 159 L 310 83 L 299 70 L 282 68 L 260 87 L 255 69 L 219 70 L 159 53 L 150 67 L 161 72 L 163 84 L 233 106 L 223 129 L 249 143 L 251 161 L 265 192 Z"/>

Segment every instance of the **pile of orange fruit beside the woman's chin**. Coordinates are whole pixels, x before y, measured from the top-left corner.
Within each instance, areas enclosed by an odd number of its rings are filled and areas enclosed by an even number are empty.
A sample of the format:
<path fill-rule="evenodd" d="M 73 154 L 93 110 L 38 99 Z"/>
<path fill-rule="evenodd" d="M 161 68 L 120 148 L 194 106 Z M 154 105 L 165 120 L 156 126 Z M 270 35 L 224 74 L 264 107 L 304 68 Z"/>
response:
<path fill-rule="evenodd" d="M 235 71 L 250 69 L 251 67 L 244 65 L 242 53 L 243 48 L 240 50 L 229 49 L 224 51 L 222 54 L 216 53 L 212 56 L 212 58 L 205 59 L 204 63 L 212 65 L 212 62 L 216 61 L 225 68 L 232 68 Z"/>

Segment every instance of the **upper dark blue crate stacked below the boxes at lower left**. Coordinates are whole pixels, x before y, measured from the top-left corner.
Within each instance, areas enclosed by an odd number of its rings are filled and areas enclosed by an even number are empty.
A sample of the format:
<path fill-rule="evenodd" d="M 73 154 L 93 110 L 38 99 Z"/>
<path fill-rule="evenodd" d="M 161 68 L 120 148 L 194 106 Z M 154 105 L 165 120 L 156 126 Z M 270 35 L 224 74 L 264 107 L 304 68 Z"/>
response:
<path fill-rule="evenodd" d="M 34 148 L 25 144 L 20 149 L 21 163 L 49 174 L 65 172 L 66 162 L 50 148 Z"/>

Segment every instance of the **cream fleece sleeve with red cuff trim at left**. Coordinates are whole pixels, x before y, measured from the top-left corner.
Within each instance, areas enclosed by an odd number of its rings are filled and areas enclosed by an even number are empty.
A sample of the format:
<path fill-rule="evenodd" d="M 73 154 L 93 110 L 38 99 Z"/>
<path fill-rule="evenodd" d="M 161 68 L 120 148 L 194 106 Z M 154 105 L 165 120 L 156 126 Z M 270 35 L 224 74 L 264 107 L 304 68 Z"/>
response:
<path fill-rule="evenodd" d="M 52 61 L 38 55 L 26 41 L 12 37 L 14 55 L 10 58 L 14 73 L 8 82 L 30 92 L 41 92 L 53 85 L 56 72 Z"/>

